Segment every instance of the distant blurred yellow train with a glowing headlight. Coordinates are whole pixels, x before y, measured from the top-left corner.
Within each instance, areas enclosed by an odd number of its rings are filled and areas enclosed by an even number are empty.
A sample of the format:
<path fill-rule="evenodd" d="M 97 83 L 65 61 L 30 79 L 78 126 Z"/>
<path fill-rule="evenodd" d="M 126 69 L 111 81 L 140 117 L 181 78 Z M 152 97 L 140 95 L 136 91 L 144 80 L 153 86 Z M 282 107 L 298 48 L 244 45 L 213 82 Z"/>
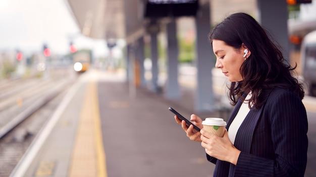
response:
<path fill-rule="evenodd" d="M 74 70 L 76 72 L 85 72 L 91 66 L 91 51 L 80 50 L 73 54 Z"/>

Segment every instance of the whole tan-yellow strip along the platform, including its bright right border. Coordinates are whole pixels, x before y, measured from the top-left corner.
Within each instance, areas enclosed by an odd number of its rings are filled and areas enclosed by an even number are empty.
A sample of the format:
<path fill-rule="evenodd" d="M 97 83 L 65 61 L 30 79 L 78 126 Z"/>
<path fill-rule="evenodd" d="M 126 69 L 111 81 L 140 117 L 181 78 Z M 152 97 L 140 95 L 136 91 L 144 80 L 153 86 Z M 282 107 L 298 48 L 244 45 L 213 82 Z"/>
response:
<path fill-rule="evenodd" d="M 97 79 L 92 78 L 86 87 L 69 176 L 108 177 L 99 115 Z"/>

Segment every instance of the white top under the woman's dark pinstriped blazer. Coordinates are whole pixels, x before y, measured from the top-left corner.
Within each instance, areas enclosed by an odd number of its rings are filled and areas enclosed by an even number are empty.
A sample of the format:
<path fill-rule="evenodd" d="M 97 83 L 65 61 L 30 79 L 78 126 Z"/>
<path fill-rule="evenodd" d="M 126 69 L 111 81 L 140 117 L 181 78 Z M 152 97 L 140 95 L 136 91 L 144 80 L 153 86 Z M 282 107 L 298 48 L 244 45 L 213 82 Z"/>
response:
<path fill-rule="evenodd" d="M 248 101 L 246 101 L 246 100 L 249 100 L 250 98 L 251 98 L 251 93 L 249 93 L 247 95 L 244 103 L 241 104 L 235 119 L 233 120 L 233 122 L 229 126 L 228 136 L 229 136 L 230 141 L 233 144 L 235 142 L 236 134 L 237 134 L 237 131 L 238 131 L 240 125 L 242 124 L 242 122 L 244 121 L 244 119 L 246 118 L 247 114 L 250 111 L 249 106 L 248 106 Z M 252 105 L 251 105 L 251 107 L 252 107 Z"/>

